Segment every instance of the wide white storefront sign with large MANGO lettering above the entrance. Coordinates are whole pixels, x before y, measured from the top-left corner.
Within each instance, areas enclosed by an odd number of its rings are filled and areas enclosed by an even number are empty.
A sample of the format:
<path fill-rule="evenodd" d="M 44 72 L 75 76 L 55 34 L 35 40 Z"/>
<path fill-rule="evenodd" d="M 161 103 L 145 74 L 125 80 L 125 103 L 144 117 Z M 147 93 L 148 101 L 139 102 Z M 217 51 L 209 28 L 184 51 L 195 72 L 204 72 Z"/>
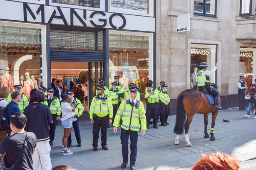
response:
<path fill-rule="evenodd" d="M 155 32 L 155 18 L 0 0 L 0 19 Z"/>

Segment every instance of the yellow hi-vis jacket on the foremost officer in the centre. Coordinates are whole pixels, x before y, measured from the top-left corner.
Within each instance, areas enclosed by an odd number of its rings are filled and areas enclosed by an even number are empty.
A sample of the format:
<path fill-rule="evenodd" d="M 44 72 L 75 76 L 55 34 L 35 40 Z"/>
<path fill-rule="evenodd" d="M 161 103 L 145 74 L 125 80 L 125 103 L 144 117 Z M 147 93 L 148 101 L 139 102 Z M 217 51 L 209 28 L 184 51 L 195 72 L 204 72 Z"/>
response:
<path fill-rule="evenodd" d="M 122 101 L 114 118 L 113 126 L 118 127 L 119 122 L 124 130 L 139 131 L 141 122 L 141 129 L 147 130 L 147 121 L 144 113 L 144 105 L 142 101 L 138 100 L 136 104 L 132 104 L 129 99 Z"/>

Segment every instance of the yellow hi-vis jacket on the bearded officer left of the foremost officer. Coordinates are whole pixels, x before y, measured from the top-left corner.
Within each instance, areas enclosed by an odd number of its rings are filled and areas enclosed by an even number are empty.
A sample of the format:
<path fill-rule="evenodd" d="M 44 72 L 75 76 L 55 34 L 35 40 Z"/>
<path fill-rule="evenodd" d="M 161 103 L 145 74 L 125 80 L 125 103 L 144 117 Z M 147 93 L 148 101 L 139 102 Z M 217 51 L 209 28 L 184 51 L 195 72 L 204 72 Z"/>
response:
<path fill-rule="evenodd" d="M 104 95 L 102 99 L 97 95 L 92 99 L 92 103 L 90 106 L 90 119 L 93 118 L 95 114 L 97 117 L 105 117 L 109 115 L 109 118 L 113 118 L 113 106 L 111 100 Z"/>

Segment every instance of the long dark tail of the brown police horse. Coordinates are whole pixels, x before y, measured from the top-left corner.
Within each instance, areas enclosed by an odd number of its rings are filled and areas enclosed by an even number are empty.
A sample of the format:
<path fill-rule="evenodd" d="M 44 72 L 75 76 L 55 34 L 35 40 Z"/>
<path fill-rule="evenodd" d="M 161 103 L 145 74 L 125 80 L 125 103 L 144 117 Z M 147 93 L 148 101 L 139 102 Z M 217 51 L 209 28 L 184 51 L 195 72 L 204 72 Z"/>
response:
<path fill-rule="evenodd" d="M 186 114 L 183 104 L 184 93 L 180 94 L 177 98 L 177 112 L 176 122 L 173 129 L 174 134 L 182 135 L 184 133 L 184 122 L 186 120 Z"/>

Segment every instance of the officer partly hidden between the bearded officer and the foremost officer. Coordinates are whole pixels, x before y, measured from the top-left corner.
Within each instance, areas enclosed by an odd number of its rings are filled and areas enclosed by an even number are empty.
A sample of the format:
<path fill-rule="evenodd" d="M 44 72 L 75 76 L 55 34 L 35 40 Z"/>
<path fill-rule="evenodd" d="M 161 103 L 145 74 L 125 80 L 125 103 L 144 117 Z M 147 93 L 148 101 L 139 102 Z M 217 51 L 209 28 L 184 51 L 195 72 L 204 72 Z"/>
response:
<path fill-rule="evenodd" d="M 112 124 L 113 124 L 114 117 L 117 114 L 118 102 L 119 102 L 118 95 L 120 93 L 120 90 L 117 89 L 117 83 L 116 82 L 113 82 L 111 85 L 112 85 L 112 88 L 109 90 L 109 97 L 110 97 L 112 105 L 113 105 L 113 120 L 112 120 Z M 109 128 L 109 125 L 108 125 L 108 128 Z"/>

